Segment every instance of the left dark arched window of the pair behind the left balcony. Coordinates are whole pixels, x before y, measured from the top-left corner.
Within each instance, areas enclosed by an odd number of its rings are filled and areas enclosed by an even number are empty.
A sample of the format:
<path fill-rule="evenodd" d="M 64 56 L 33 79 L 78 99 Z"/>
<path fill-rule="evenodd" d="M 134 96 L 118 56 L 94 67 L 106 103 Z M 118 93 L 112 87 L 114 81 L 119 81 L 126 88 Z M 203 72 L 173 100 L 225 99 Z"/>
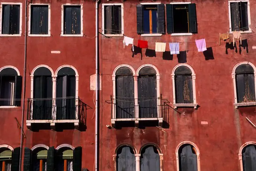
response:
<path fill-rule="evenodd" d="M 52 72 L 46 67 L 34 71 L 33 120 L 52 118 Z"/>

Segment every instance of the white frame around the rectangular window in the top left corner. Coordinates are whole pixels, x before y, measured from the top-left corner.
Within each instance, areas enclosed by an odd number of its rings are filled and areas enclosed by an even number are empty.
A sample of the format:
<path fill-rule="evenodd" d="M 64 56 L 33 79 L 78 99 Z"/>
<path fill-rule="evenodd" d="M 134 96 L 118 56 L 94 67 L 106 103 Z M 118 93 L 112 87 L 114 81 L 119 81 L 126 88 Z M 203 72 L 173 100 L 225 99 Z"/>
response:
<path fill-rule="evenodd" d="M 2 22 L 3 22 L 3 5 L 20 5 L 20 33 L 19 34 L 2 34 Z M 1 2 L 0 6 L 0 37 L 1 36 L 10 36 L 10 37 L 17 37 L 21 36 L 22 33 L 22 3 L 19 2 Z"/>

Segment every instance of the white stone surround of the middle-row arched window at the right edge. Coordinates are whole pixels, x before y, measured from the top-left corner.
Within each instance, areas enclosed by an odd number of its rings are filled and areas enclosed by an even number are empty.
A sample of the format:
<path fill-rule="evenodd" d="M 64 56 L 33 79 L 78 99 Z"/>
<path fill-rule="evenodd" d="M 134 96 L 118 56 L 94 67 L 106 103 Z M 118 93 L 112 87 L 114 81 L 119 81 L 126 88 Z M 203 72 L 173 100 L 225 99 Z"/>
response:
<path fill-rule="evenodd" d="M 239 106 L 255 106 L 256 105 L 256 102 L 248 102 L 248 103 L 238 103 L 237 101 L 237 94 L 236 94 L 236 68 L 240 65 L 243 65 L 243 64 L 248 64 L 248 65 L 251 65 L 251 67 L 253 67 L 253 70 L 254 70 L 254 88 L 255 88 L 255 92 L 256 92 L 256 86 L 255 86 L 255 83 L 256 83 L 256 67 L 251 63 L 251 62 L 248 62 L 248 61 L 244 61 L 244 62 L 239 62 L 238 64 L 235 65 L 235 67 L 233 68 L 233 71 L 232 71 L 232 79 L 233 79 L 233 86 L 234 86 L 234 96 L 235 96 L 235 103 L 234 103 L 234 106 L 235 108 L 237 109 Z"/>

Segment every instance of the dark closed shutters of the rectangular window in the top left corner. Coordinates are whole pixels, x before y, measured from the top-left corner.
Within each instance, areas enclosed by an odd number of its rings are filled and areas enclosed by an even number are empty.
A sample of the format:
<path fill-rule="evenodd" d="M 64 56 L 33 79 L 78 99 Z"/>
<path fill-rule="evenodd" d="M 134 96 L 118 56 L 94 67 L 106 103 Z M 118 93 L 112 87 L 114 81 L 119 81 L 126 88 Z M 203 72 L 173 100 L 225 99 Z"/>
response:
<path fill-rule="evenodd" d="M 2 31 L 1 34 L 20 34 L 20 5 L 2 4 Z"/>

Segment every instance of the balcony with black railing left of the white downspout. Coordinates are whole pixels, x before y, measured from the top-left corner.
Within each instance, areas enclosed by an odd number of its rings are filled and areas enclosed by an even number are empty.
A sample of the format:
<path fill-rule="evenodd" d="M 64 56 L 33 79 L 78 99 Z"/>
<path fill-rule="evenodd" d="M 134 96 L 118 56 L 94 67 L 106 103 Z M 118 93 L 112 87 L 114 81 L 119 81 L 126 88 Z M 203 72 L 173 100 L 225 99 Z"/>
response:
<path fill-rule="evenodd" d="M 27 100 L 26 125 L 49 123 L 54 129 L 58 123 L 73 123 L 78 129 L 79 123 L 85 124 L 86 110 L 92 109 L 79 98 L 45 98 Z"/>

